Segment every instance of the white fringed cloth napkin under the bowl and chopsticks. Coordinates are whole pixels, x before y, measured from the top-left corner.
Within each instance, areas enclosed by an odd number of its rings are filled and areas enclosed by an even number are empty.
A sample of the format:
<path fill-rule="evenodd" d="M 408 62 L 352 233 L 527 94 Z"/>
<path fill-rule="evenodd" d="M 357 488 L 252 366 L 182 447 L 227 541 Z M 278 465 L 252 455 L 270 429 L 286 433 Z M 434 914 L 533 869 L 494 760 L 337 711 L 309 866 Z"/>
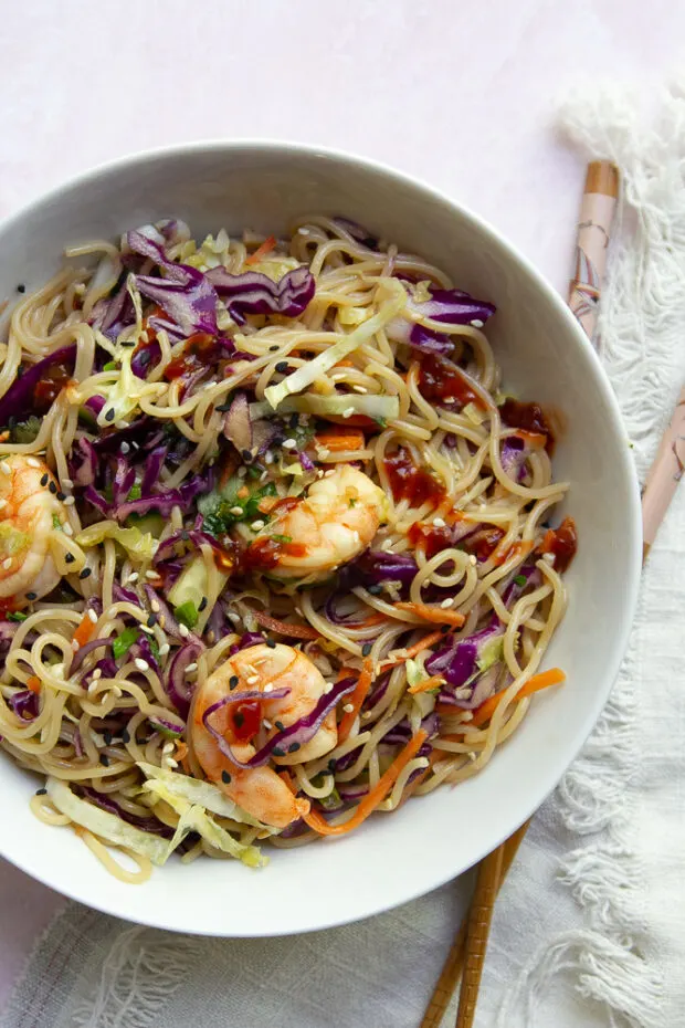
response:
<path fill-rule="evenodd" d="M 643 114 L 639 101 L 594 91 L 562 122 L 623 172 L 600 329 L 643 478 L 685 381 L 685 96 L 672 90 Z M 477 1025 L 685 1025 L 684 623 L 685 486 L 652 549 L 616 688 L 497 903 Z M 417 1028 L 456 908 L 445 887 L 361 924 L 234 942 L 70 904 L 0 1028 Z"/>

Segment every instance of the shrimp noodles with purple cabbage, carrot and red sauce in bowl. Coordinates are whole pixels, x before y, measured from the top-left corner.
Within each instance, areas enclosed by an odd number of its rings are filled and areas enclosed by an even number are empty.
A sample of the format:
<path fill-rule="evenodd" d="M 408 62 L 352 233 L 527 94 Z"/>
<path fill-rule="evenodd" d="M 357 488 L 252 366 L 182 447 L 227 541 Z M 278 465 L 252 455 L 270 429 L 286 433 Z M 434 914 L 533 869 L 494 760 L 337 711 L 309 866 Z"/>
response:
<path fill-rule="evenodd" d="M 342 218 L 67 258 L 0 371 L 0 735 L 35 815 L 143 881 L 476 775 L 563 679 L 576 552 L 493 304 Z"/>

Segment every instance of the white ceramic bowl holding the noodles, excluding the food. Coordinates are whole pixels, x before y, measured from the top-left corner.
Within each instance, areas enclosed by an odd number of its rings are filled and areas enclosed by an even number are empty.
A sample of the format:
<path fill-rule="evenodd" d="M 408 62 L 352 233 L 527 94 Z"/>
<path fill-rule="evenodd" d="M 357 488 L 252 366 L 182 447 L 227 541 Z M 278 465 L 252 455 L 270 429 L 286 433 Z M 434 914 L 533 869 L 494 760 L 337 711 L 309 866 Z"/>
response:
<path fill-rule="evenodd" d="M 295 216 L 341 213 L 445 269 L 497 305 L 488 335 L 504 381 L 562 411 L 557 479 L 580 545 L 570 606 L 546 657 L 568 682 L 540 694 L 474 779 L 376 816 L 349 838 L 274 850 L 264 871 L 172 860 L 145 885 L 112 879 L 68 830 L 29 810 L 39 784 L 0 754 L 0 852 L 91 906 L 164 929 L 280 935 L 378 913 L 442 884 L 497 846 L 542 803 L 592 728 L 626 643 L 641 556 L 637 485 L 611 388 L 561 298 L 492 228 L 380 165 L 262 143 L 155 151 L 98 168 L 0 228 L 0 298 L 43 283 L 66 244 L 178 216 L 203 235 L 283 231 Z M 559 512 L 560 514 L 565 511 Z"/>

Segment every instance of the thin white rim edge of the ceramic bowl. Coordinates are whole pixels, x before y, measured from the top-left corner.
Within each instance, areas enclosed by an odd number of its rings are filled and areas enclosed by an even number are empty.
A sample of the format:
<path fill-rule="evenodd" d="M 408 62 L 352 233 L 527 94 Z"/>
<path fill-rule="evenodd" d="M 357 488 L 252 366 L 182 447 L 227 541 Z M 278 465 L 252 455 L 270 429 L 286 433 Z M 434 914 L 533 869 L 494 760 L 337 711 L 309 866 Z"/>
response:
<path fill-rule="evenodd" d="M 614 436 L 625 436 L 618 400 L 607 373 L 599 359 L 597 350 L 592 346 L 583 329 L 580 327 L 576 317 L 570 312 L 563 298 L 545 279 L 542 273 L 538 271 L 533 262 L 489 221 L 475 213 L 470 207 L 463 204 L 460 200 L 443 192 L 441 189 L 435 188 L 419 176 L 400 171 L 392 166 L 375 158 L 360 156 L 358 154 L 336 147 L 319 146 L 316 143 L 288 141 L 272 137 L 244 137 L 231 139 L 210 138 L 135 150 L 120 157 L 116 157 L 112 160 L 102 161 L 91 168 L 85 169 L 84 171 L 78 172 L 75 176 L 57 182 L 51 189 L 41 192 L 31 199 L 28 203 L 24 203 L 19 210 L 12 211 L 8 216 L 0 219 L 0 245 L 2 244 L 2 238 L 4 233 L 11 231 L 14 227 L 21 225 L 22 220 L 30 217 L 36 209 L 49 203 L 59 203 L 64 196 L 67 196 L 72 191 L 96 181 L 98 178 L 106 178 L 109 175 L 115 175 L 116 172 L 127 168 L 145 166 L 147 164 L 164 161 L 178 157 L 192 157 L 203 153 L 209 154 L 212 151 L 230 155 L 250 150 L 257 155 L 263 154 L 275 156 L 278 153 L 282 153 L 310 160 L 316 160 L 323 157 L 330 158 L 338 164 L 352 165 L 362 170 L 384 178 L 390 187 L 403 186 L 410 190 L 423 192 L 433 200 L 436 200 L 450 208 L 454 213 L 457 213 L 467 221 L 471 221 L 472 225 L 485 238 L 488 238 L 489 241 L 498 246 L 502 251 L 504 251 L 509 260 L 519 264 L 524 273 L 531 281 L 531 284 L 546 296 L 548 303 L 550 303 L 551 307 L 554 308 L 555 314 L 560 317 L 562 322 L 566 322 L 566 325 L 570 331 L 570 335 L 576 339 L 576 345 L 584 352 L 586 359 L 589 360 L 592 368 L 592 373 L 596 378 L 596 385 L 601 391 L 602 399 L 605 403 L 605 410 L 608 413 L 608 431 L 611 431 Z M 625 482 L 626 494 L 629 496 L 626 522 L 630 532 L 630 539 L 628 541 L 630 559 L 626 567 L 626 575 L 623 581 L 622 590 L 622 625 L 613 641 L 612 660 L 610 662 L 610 668 L 607 673 L 605 681 L 602 688 L 598 689 L 597 691 L 596 702 L 593 704 L 589 704 L 586 709 L 586 716 L 581 726 L 579 726 L 577 730 L 576 745 L 573 746 L 572 753 L 569 754 L 566 769 L 568 769 L 568 767 L 570 767 L 573 760 L 578 757 L 578 754 L 587 742 L 588 736 L 597 724 L 601 711 L 607 703 L 628 648 L 629 634 L 633 625 L 637 605 L 640 574 L 642 567 L 642 513 L 640 486 L 636 471 L 630 457 L 629 448 L 619 447 L 618 449 L 620 453 L 621 478 Z M 528 804 L 526 805 L 525 816 L 518 818 L 518 824 L 512 827 L 512 831 L 515 831 L 516 828 L 524 824 L 524 821 L 530 818 L 535 811 L 540 808 L 548 796 L 557 787 L 559 780 L 560 779 L 555 779 L 551 782 L 551 784 L 546 782 L 545 785 L 541 788 L 538 788 L 535 794 L 534 790 L 530 790 L 530 796 L 534 798 L 529 799 Z M 498 838 L 495 846 L 500 845 L 505 838 L 507 838 L 507 836 Z M 486 853 L 482 853 L 478 860 L 482 860 L 485 856 Z M 11 856 L 4 852 L 2 839 L 0 839 L 0 857 L 3 857 L 10 863 L 14 864 L 14 867 L 19 868 L 19 870 L 24 871 L 24 873 L 28 873 L 31 878 L 41 882 L 43 885 L 57 891 L 71 900 L 84 903 L 87 906 L 104 914 L 123 917 L 125 920 L 131 920 L 129 914 L 122 914 L 122 912 L 117 910 L 116 902 L 107 902 L 105 898 L 98 894 L 95 896 L 92 894 L 84 894 L 87 893 L 88 890 L 86 889 L 84 892 L 82 892 L 78 889 L 77 882 L 74 881 L 65 883 L 59 880 L 60 874 L 51 875 L 49 862 L 44 873 L 40 873 L 34 870 L 25 871 L 24 867 L 22 867 L 22 863 L 20 862 L 20 858 L 17 857 L 17 854 Z M 474 861 L 472 867 L 474 867 L 478 860 Z M 352 913 L 349 916 L 329 916 L 328 919 L 324 916 L 323 920 L 319 920 L 316 923 L 297 925 L 292 929 L 281 927 L 278 929 L 277 934 L 287 935 L 301 932 L 324 931 L 329 927 L 336 927 L 339 925 L 354 923 L 366 917 L 375 916 L 387 910 L 392 910 L 396 906 L 415 900 L 419 896 L 424 895 L 425 893 L 438 889 L 441 885 L 444 885 L 446 882 L 452 881 L 454 878 L 465 873 L 466 870 L 468 869 L 462 869 L 461 871 L 446 874 L 440 873 L 438 877 L 430 879 L 428 883 L 425 880 L 420 880 L 420 878 L 417 875 L 415 879 L 408 880 L 408 888 L 403 891 L 401 896 L 393 896 L 389 899 L 386 898 L 376 903 L 368 903 L 363 913 Z M 178 923 L 173 923 L 172 919 L 168 920 L 164 916 L 164 914 L 157 917 L 148 916 L 144 911 L 141 911 L 140 915 L 136 915 L 135 923 L 148 925 L 150 927 L 157 927 L 164 931 L 208 935 L 209 937 L 273 937 L 274 935 L 272 932 L 249 933 L 235 931 L 212 932 L 210 935 L 205 930 L 189 926 L 187 924 L 179 925 Z"/>

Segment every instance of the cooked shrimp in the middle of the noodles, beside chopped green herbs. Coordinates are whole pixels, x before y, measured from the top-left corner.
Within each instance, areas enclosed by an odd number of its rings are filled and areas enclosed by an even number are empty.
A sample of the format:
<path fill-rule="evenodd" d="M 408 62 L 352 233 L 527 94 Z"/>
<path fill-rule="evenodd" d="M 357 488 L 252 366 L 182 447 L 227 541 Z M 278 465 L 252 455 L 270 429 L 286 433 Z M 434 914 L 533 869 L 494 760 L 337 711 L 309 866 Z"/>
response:
<path fill-rule="evenodd" d="M 285 536 L 295 544 L 282 547 L 268 574 L 308 581 L 326 578 L 367 548 L 387 512 L 383 491 L 368 475 L 348 464 L 338 465 L 260 533 L 262 537 Z"/>

